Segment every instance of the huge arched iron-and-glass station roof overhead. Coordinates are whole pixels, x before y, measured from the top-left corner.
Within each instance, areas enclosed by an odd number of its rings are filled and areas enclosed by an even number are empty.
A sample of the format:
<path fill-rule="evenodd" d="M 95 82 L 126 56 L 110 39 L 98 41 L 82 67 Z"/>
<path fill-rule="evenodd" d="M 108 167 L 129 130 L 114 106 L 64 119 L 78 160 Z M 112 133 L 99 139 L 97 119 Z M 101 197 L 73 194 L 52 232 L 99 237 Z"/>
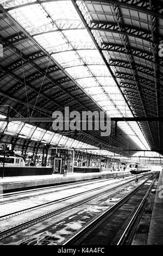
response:
<path fill-rule="evenodd" d="M 78 141 L 117 154 L 125 149 L 163 150 L 162 1 L 0 3 L 2 115 L 51 117 L 65 106 L 80 113 L 104 111 L 124 119 L 117 123 L 116 136 L 112 121 L 109 137 L 81 131 Z M 129 117 L 147 120 L 126 121 Z M 30 126 L 38 127 L 30 134 Z M 37 141 L 42 131 L 54 132 L 52 123 L 41 121 L 20 123 L 17 129 L 18 136 L 36 134 Z M 56 133 L 55 144 L 57 136 L 64 142 L 74 139 L 71 132 Z"/>

